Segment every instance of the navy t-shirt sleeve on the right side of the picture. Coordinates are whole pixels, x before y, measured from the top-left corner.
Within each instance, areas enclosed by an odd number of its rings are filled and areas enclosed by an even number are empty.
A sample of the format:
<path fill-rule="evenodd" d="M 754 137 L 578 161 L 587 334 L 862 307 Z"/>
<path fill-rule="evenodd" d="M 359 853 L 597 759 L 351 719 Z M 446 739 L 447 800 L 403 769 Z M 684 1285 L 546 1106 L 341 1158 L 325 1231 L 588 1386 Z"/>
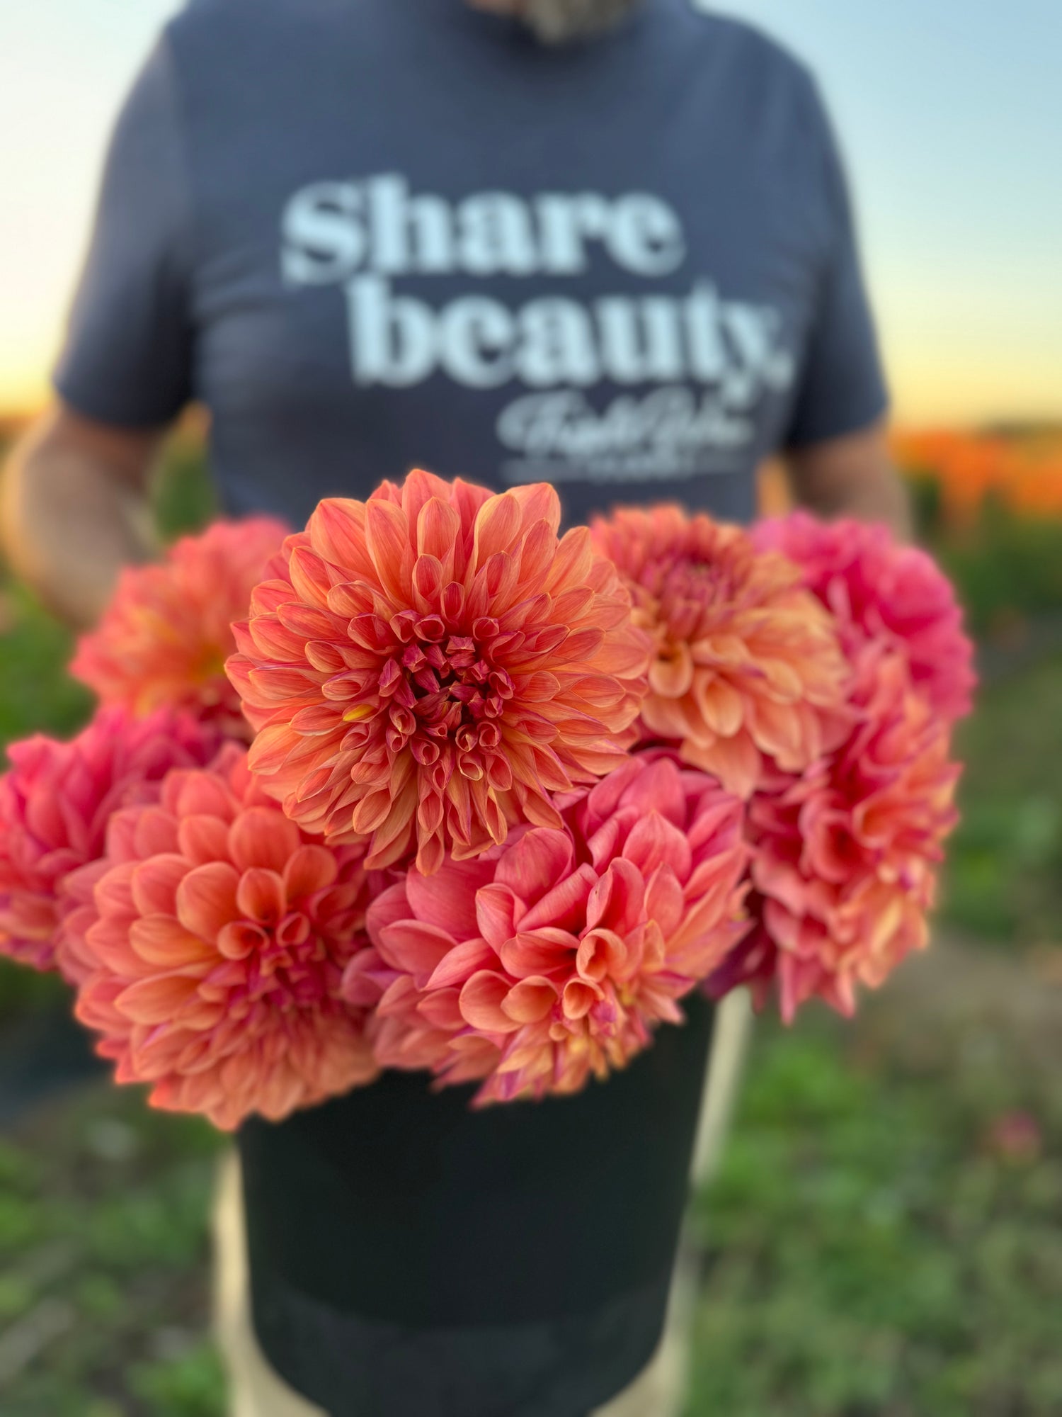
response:
<path fill-rule="evenodd" d="M 790 448 L 868 428 L 889 404 L 844 166 L 816 89 L 811 96 L 810 140 L 817 149 L 816 170 L 826 201 L 828 239 L 784 438 Z"/>

